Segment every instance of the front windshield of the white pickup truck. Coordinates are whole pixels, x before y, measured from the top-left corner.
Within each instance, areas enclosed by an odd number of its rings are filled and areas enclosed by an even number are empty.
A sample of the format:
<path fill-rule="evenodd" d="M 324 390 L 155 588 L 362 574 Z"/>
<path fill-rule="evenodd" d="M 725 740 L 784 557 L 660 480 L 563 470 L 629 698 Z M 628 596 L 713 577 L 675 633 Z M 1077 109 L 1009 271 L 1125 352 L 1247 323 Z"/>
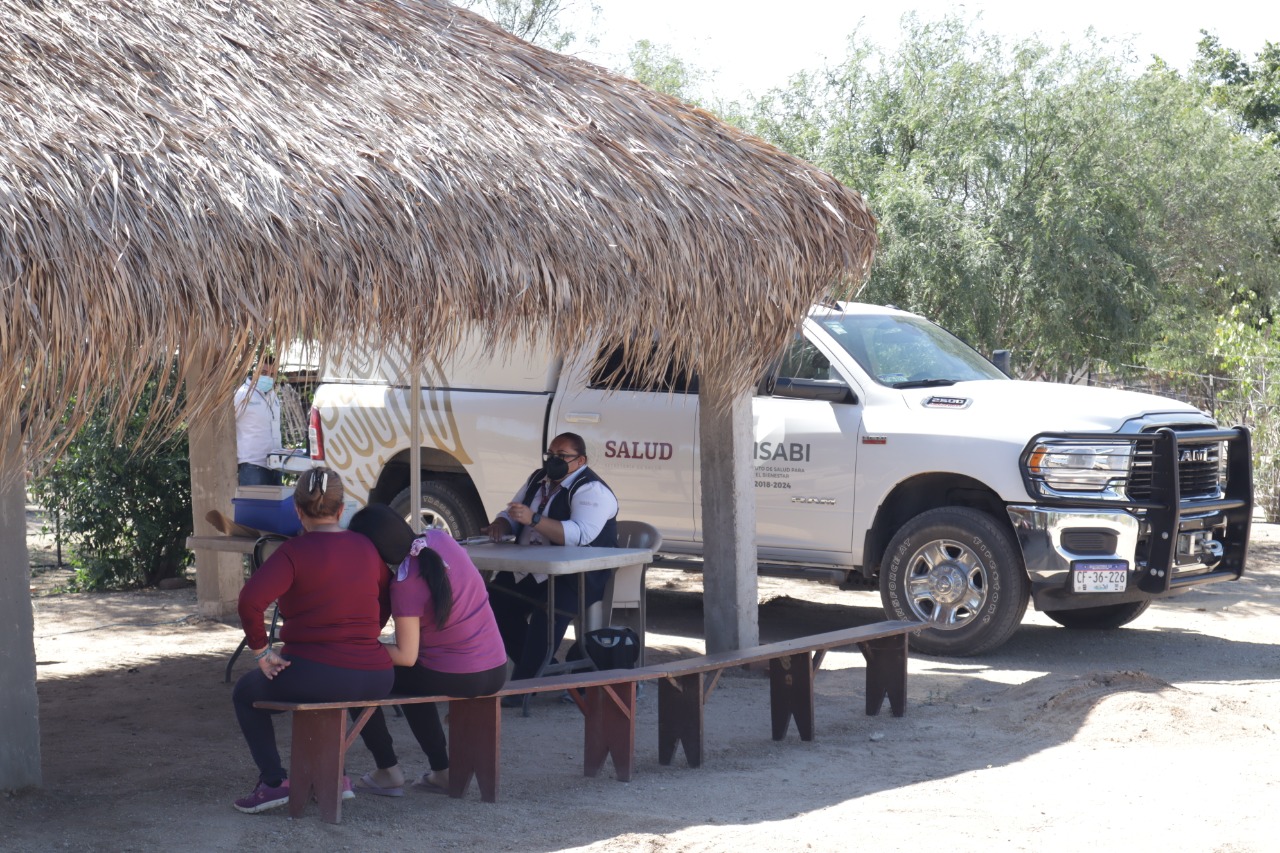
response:
<path fill-rule="evenodd" d="M 890 388 L 1007 379 L 968 343 L 923 318 L 828 314 L 813 319 L 868 375 Z"/>

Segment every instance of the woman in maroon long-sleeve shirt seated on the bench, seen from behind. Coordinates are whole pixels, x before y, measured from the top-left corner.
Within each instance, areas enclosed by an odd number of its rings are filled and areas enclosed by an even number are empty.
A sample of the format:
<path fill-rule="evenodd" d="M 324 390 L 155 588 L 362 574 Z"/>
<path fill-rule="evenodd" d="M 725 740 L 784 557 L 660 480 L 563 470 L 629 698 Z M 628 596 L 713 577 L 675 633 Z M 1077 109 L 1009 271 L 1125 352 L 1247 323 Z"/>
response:
<path fill-rule="evenodd" d="M 389 575 L 367 538 L 338 525 L 342 498 L 337 473 L 316 467 L 302 474 L 293 502 L 305 533 L 276 548 L 241 590 L 241 624 L 257 669 L 236 683 L 232 702 L 259 770 L 257 786 L 234 803 L 242 812 L 289 800 L 273 712 L 255 702 L 380 699 L 392 689 L 392 660 L 378 642 L 390 615 Z M 262 628 L 273 601 L 284 617 L 279 652 Z"/>

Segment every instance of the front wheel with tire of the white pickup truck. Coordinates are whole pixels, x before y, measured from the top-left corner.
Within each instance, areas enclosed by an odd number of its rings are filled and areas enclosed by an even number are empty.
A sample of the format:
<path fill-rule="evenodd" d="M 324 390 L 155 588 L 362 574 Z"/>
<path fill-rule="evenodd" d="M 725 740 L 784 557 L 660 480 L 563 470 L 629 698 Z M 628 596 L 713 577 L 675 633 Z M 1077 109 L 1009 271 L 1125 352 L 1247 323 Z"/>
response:
<path fill-rule="evenodd" d="M 908 521 L 881 565 L 884 611 L 928 622 L 910 640 L 925 654 L 996 648 L 1021 624 L 1029 594 L 1009 532 L 986 512 L 965 507 L 929 510 Z"/>

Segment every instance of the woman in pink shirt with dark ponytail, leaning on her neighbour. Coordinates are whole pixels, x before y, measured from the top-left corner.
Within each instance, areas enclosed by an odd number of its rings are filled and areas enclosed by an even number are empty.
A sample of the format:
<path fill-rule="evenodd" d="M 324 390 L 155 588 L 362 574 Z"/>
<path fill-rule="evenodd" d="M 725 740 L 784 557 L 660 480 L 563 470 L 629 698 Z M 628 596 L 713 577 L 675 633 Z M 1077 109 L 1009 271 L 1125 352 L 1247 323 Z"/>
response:
<path fill-rule="evenodd" d="M 507 683 L 507 652 L 484 579 L 462 546 L 444 530 L 415 537 L 404 519 L 380 503 L 356 512 L 347 529 L 369 537 L 396 575 L 390 585 L 396 643 L 387 646 L 396 665 L 392 692 L 470 698 L 500 690 Z M 403 710 L 431 767 L 413 786 L 445 793 L 449 752 L 435 704 Z M 403 795 L 404 771 L 381 708 L 360 736 L 378 768 L 365 774 L 356 790 Z"/>

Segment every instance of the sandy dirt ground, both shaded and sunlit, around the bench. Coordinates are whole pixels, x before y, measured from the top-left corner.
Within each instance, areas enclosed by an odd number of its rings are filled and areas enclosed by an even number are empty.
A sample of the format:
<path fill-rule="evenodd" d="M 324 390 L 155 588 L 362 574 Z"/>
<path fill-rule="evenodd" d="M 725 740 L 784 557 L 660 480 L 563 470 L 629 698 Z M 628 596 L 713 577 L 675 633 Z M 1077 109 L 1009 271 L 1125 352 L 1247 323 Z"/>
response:
<path fill-rule="evenodd" d="M 1280 803 L 1280 530 L 1249 574 L 1069 631 L 1028 613 L 972 660 L 913 654 L 906 716 L 863 713 L 861 656 L 828 656 L 817 738 L 769 739 L 768 683 L 733 672 L 707 706 L 703 767 L 657 756 L 639 701 L 630 784 L 581 772 L 577 710 L 503 712 L 498 803 L 362 795 L 343 821 L 230 802 L 255 781 L 223 683 L 239 639 L 195 589 L 67 594 L 33 578 L 45 784 L 0 797 L 0 849 L 49 850 L 1274 850 Z M 700 651 L 698 575 L 650 575 L 654 656 Z M 52 592 L 51 592 L 52 590 Z M 762 579 L 763 639 L 881 617 L 873 593 Z M 237 675 L 248 661 L 237 665 Z M 425 768 L 402 720 L 410 771 Z M 288 724 L 278 733 L 287 752 Z M 355 775 L 372 763 L 361 744 Z"/>

